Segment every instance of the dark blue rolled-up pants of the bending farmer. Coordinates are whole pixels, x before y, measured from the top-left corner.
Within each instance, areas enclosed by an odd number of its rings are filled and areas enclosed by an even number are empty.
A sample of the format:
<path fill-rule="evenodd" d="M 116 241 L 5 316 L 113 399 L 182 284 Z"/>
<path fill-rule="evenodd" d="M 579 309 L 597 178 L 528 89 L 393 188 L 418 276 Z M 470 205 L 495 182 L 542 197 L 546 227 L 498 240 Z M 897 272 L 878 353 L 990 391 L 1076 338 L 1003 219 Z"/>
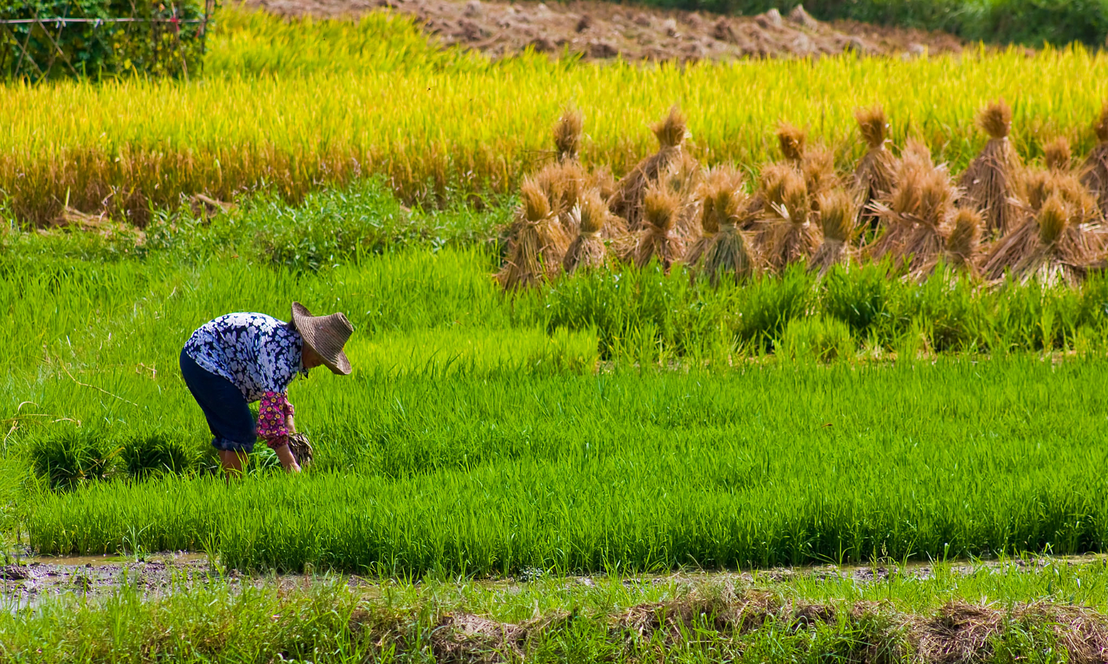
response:
<path fill-rule="evenodd" d="M 181 375 L 208 421 L 208 428 L 215 436 L 212 446 L 227 452 L 254 452 L 254 442 L 258 439 L 254 415 L 238 387 L 202 369 L 184 351 L 181 351 Z"/>

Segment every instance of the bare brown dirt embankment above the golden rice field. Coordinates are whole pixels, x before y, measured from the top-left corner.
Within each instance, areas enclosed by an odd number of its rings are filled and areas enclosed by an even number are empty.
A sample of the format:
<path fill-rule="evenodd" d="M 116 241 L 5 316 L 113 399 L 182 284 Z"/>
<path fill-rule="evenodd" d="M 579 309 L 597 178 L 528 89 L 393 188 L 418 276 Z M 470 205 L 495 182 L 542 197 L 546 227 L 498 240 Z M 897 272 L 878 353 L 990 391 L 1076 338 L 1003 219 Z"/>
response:
<path fill-rule="evenodd" d="M 493 58 L 532 48 L 604 60 L 732 60 L 820 56 L 843 52 L 911 58 L 961 52 L 942 32 L 856 21 L 822 22 L 797 6 L 755 17 L 666 11 L 612 2 L 492 2 L 482 0 L 247 0 L 283 15 L 337 18 L 380 8 L 414 14 L 445 45 Z"/>

